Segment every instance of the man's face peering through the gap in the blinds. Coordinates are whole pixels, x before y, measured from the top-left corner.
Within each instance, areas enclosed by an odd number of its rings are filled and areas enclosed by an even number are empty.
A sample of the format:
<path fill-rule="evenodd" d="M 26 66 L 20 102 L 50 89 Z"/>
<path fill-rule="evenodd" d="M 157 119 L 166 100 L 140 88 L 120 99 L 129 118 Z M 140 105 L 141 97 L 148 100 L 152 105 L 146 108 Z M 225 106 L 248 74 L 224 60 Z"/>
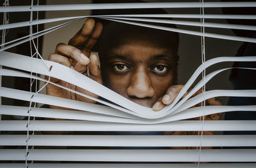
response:
<path fill-rule="evenodd" d="M 153 104 L 174 85 L 177 61 L 161 38 L 126 33 L 114 38 L 101 61 L 106 87 L 142 106 Z"/>

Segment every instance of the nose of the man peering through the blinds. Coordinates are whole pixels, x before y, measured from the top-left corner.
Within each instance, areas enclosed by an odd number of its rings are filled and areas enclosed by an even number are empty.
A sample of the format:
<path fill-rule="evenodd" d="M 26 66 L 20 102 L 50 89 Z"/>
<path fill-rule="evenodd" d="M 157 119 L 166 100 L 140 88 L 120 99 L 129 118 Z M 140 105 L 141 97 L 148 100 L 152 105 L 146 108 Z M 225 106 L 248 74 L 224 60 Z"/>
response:
<path fill-rule="evenodd" d="M 155 90 L 152 87 L 152 82 L 150 80 L 150 76 L 145 69 L 138 69 L 134 74 L 132 74 L 132 78 L 127 87 L 127 95 L 145 98 L 145 97 L 153 97 L 155 95 Z"/>

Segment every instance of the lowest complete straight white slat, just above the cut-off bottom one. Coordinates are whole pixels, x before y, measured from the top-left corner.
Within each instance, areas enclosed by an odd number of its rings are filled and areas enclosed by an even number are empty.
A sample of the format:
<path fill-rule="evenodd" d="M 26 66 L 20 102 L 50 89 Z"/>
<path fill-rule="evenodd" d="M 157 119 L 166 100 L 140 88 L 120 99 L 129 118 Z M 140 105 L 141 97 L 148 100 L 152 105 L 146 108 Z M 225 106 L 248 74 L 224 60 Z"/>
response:
<path fill-rule="evenodd" d="M 0 160 L 25 160 L 26 150 L 1 150 Z M 28 160 L 197 162 L 198 150 L 29 150 Z M 201 162 L 256 162 L 256 150 L 201 150 Z"/>

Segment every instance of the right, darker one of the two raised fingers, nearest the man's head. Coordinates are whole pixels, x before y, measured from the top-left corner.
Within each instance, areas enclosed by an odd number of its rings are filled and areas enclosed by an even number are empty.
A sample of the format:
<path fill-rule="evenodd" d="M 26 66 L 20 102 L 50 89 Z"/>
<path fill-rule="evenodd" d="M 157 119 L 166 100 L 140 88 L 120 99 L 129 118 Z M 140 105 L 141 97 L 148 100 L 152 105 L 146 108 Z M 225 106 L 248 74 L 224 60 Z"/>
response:
<path fill-rule="evenodd" d="M 97 22 L 95 24 L 91 36 L 88 38 L 86 43 L 84 43 L 83 52 L 89 53 L 91 52 L 93 46 L 97 42 L 97 39 L 100 37 L 100 34 L 102 32 L 103 25 L 100 22 Z"/>

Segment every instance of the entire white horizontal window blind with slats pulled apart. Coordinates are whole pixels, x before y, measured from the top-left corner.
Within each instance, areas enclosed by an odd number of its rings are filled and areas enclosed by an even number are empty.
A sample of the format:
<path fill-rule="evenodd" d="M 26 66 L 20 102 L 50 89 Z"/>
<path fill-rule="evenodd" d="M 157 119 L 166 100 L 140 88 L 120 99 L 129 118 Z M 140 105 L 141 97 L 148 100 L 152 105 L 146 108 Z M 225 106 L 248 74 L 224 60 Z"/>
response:
<path fill-rule="evenodd" d="M 70 92 L 87 97 L 100 104 L 74 101 L 61 97 L 45 95 L 38 88 L 35 92 L 1 87 L 0 96 L 29 102 L 28 107 L 1 105 L 1 115 L 26 116 L 27 120 L 0 121 L 0 167 L 255 167 L 255 135 L 207 135 L 209 131 L 255 131 L 255 120 L 204 120 L 204 116 L 216 113 L 234 113 L 234 111 L 256 111 L 256 104 L 243 106 L 201 106 L 200 102 L 212 97 L 255 97 L 256 90 L 205 90 L 205 85 L 220 73 L 230 69 L 255 67 L 224 67 L 211 73 L 205 69 L 223 62 L 255 62 L 256 56 L 225 57 L 217 55 L 214 59 L 205 59 L 205 38 L 228 41 L 256 43 L 255 37 L 230 36 L 207 32 L 207 27 L 218 29 L 241 29 L 254 31 L 255 25 L 222 24 L 211 22 L 211 18 L 255 20 L 256 15 L 215 15 L 204 14 L 205 8 L 255 8 L 255 2 L 182 2 L 182 3 L 104 3 L 104 4 L 56 4 L 30 6 L 9 6 L 5 1 L 0 7 L 3 13 L 2 44 L 0 49 L 1 76 L 31 79 L 31 86 L 42 81 L 64 88 Z M 200 14 L 129 14 L 129 15 L 90 15 L 76 17 L 47 18 L 34 20 L 39 11 L 70 10 L 107 10 L 107 9 L 142 9 L 142 8 L 198 8 Z M 30 12 L 30 20 L 8 24 L 7 14 Z M 34 13 L 33 13 L 34 12 Z M 170 32 L 179 32 L 202 37 L 202 64 L 180 90 L 172 102 L 161 111 L 153 111 L 122 95 L 113 92 L 96 81 L 77 73 L 74 69 L 42 59 L 38 52 L 37 38 L 56 31 L 65 25 L 88 17 L 111 20 L 124 24 L 150 27 Z M 200 21 L 169 20 L 168 18 L 199 18 Z M 205 22 L 204 19 L 209 19 Z M 10 18 L 11 19 L 11 18 Z M 60 22 L 43 31 L 33 31 L 32 25 Z M 189 25 L 201 27 L 201 31 L 155 25 L 154 23 Z M 29 26 L 29 34 L 22 38 L 5 41 L 6 29 Z M 6 50 L 29 41 L 31 57 Z M 35 51 L 35 52 L 33 52 Z M 207 56 L 207 55 L 206 55 Z M 8 67 L 8 68 L 6 68 Z M 10 69 L 12 68 L 12 69 Z M 63 73 L 65 72 L 65 73 Z M 207 71 L 208 72 L 208 71 Z M 202 75 L 203 74 L 203 75 Z M 40 75 L 67 81 L 77 87 L 97 94 L 102 99 L 63 87 Z M 196 78 L 202 79 L 197 81 Z M 49 79 L 50 79 L 49 78 Z M 30 86 L 30 87 L 31 87 Z M 190 87 L 194 86 L 191 90 Z M 193 96 L 204 88 L 202 94 Z M 184 94 L 188 94 L 183 97 Z M 183 97 L 183 98 L 182 98 Z M 36 103 L 60 106 L 67 109 L 47 109 L 34 106 Z M 35 117 L 35 118 L 33 118 Z M 189 120 L 202 117 L 201 120 Z M 56 118 L 60 120 L 44 120 Z M 64 119 L 64 120 L 63 120 Z M 74 132 L 59 135 L 58 132 Z M 152 132 L 198 132 L 196 135 L 152 135 Z M 19 133 L 21 132 L 21 133 Z M 24 134 L 25 132 L 25 134 Z M 46 132 L 37 134 L 37 132 Z M 47 132 L 56 132 L 51 135 Z M 90 132 L 104 132 L 93 135 Z M 112 133 L 109 133 L 112 132 Z M 138 135 L 116 135 L 113 132 L 138 132 Z M 140 132 L 146 132 L 140 134 Z M 82 135 L 81 135 L 82 134 Z M 107 134 L 107 135 L 106 135 Z M 110 134 L 110 135 L 109 135 Z M 112 134 L 112 135 L 111 135 Z M 19 147 L 15 147 L 19 146 Z M 132 147 L 132 148 L 131 148 Z M 153 148 L 154 147 L 154 148 Z M 209 148 L 213 147 L 213 148 Z M 232 148 L 227 148 L 232 147 Z M 244 148 L 241 148 L 244 147 Z M 93 163 L 92 163 L 93 162 Z M 121 162 L 121 163 L 120 163 Z M 178 163 L 178 164 L 177 164 Z"/>

